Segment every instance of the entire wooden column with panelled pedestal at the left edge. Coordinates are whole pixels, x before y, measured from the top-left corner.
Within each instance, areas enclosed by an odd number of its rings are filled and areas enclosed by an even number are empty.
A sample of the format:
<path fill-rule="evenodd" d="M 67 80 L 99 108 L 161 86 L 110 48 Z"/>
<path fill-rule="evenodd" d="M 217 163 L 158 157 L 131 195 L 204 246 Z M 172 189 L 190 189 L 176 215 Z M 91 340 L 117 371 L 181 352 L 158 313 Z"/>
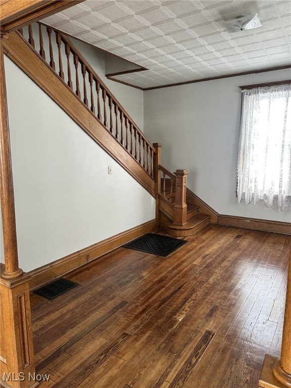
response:
<path fill-rule="evenodd" d="M 32 388 L 38 385 L 38 382 L 33 379 L 35 367 L 29 300 L 30 276 L 23 274 L 18 266 L 2 39 L 3 36 L 0 44 L 0 198 L 5 268 L 0 277 L 0 382 L 8 388 Z"/>

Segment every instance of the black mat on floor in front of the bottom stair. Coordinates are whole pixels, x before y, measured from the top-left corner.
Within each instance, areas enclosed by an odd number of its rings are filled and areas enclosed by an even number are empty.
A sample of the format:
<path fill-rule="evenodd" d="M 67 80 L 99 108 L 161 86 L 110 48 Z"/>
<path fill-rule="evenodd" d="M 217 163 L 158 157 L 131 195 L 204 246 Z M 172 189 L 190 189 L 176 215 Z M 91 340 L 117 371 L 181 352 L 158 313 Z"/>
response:
<path fill-rule="evenodd" d="M 181 240 L 180 238 L 148 233 L 130 241 L 130 243 L 124 244 L 122 247 L 165 257 L 187 242 L 188 241 Z"/>

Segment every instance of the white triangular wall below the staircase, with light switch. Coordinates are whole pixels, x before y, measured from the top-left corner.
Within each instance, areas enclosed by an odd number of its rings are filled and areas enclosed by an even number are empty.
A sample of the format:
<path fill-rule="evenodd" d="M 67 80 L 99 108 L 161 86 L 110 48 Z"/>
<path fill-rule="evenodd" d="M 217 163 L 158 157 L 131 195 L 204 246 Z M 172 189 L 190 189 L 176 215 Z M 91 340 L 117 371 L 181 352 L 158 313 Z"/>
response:
<path fill-rule="evenodd" d="M 20 267 L 154 219 L 146 189 L 7 58 L 5 67 Z"/>

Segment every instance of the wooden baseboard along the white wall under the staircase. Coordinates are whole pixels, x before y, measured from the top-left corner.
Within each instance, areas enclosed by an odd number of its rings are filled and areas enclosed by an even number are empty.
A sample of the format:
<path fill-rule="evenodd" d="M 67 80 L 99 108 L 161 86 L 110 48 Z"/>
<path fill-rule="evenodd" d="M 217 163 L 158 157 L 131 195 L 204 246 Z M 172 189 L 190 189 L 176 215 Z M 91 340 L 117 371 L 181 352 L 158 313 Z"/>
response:
<path fill-rule="evenodd" d="M 87 264 L 108 252 L 120 247 L 121 245 L 128 243 L 128 241 L 137 238 L 143 234 L 152 232 L 157 228 L 157 221 L 152 220 L 126 230 L 115 236 L 109 237 L 99 243 L 84 248 L 71 255 L 65 256 L 53 263 L 46 264 L 42 267 L 36 268 L 30 272 L 27 272 L 31 276 L 29 283 L 30 289 L 39 287 L 40 285 L 52 281 L 58 277 L 69 273 L 84 264 Z"/>

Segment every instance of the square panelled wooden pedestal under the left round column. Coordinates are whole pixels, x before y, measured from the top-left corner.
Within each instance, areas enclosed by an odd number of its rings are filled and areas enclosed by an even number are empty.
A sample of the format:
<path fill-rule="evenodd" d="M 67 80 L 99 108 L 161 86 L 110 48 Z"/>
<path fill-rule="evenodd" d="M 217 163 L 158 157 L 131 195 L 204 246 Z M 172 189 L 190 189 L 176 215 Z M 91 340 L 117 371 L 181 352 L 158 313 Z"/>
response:
<path fill-rule="evenodd" d="M 30 276 L 0 278 L 2 337 L 0 343 L 0 382 L 5 387 L 34 388 L 35 373 L 29 300 Z M 19 378 L 21 376 L 21 378 Z"/>

